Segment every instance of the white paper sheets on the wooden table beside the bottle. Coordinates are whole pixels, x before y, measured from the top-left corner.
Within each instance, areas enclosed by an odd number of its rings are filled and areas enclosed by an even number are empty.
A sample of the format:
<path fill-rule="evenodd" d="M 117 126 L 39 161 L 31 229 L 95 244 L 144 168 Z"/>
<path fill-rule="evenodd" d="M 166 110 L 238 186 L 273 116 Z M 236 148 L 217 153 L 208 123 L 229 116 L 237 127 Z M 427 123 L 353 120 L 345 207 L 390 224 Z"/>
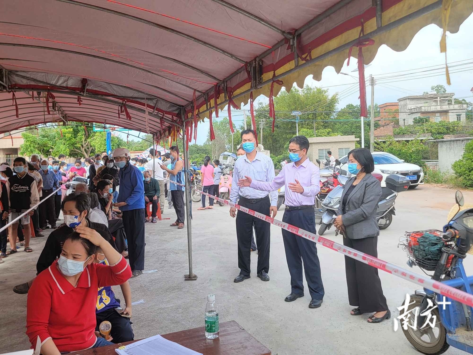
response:
<path fill-rule="evenodd" d="M 119 355 L 202 355 L 160 335 L 121 346 L 115 351 Z"/>

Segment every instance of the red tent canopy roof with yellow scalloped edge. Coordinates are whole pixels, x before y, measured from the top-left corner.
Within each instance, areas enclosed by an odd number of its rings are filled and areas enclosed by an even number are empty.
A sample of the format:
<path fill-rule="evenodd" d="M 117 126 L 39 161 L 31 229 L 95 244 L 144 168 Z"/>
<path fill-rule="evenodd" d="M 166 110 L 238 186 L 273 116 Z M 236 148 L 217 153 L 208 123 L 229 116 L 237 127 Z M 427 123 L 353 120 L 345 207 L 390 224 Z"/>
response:
<path fill-rule="evenodd" d="M 173 124 L 218 106 L 287 89 L 325 66 L 340 71 L 361 24 L 375 44 L 403 50 L 441 26 L 441 0 L 15 0 L 0 5 L 0 132 L 62 120 L 114 124 L 166 137 Z M 373 6 L 375 5 L 375 6 Z M 473 2 L 454 1 L 455 32 Z M 412 19 L 416 18 L 415 21 Z M 438 38 L 433 38 L 437 41 Z M 355 52 L 356 53 L 356 52 Z M 277 95 L 275 85 L 273 95 Z M 46 93 L 50 114 L 45 108 Z M 37 92 L 42 92 L 38 98 Z M 32 93 L 35 99 L 31 97 Z M 80 97 L 80 105 L 79 98 Z M 55 103 L 52 104 L 52 101 Z M 145 110 L 145 103 L 147 110 Z M 54 105 L 53 110 L 51 106 Z M 119 106 L 127 107 L 118 115 Z M 148 115 L 146 115 L 148 111 Z M 131 118 L 131 120 L 130 120 Z"/>

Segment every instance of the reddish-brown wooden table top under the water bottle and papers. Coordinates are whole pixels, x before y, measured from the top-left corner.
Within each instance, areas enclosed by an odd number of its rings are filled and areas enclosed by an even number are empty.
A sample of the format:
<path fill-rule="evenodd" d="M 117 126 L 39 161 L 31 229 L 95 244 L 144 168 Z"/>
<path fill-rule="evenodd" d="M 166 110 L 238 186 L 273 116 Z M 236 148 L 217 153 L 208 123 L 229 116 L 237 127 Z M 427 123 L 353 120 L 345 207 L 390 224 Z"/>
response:
<path fill-rule="evenodd" d="M 235 320 L 220 323 L 220 332 L 217 339 L 207 339 L 205 337 L 205 327 L 161 334 L 161 336 L 204 355 L 271 355 L 271 351 L 266 346 L 263 346 Z M 133 341 L 123 343 L 123 345 L 131 343 Z M 117 347 L 118 344 L 115 344 L 70 354 L 116 355 L 115 349 Z"/>

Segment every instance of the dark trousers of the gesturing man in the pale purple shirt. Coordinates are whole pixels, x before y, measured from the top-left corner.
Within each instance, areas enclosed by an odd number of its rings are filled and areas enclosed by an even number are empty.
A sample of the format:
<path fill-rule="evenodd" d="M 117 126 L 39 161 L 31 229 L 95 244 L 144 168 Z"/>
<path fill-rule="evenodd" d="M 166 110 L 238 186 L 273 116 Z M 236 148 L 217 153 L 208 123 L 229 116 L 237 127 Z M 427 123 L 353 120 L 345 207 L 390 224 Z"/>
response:
<path fill-rule="evenodd" d="M 315 233 L 313 208 L 286 210 L 282 221 Z M 284 229 L 282 230 L 282 241 L 291 275 L 291 292 L 304 293 L 304 284 L 302 283 L 302 263 L 304 263 L 304 273 L 310 296 L 312 299 L 322 300 L 324 298 L 324 284 L 320 275 L 320 262 L 315 243 Z"/>

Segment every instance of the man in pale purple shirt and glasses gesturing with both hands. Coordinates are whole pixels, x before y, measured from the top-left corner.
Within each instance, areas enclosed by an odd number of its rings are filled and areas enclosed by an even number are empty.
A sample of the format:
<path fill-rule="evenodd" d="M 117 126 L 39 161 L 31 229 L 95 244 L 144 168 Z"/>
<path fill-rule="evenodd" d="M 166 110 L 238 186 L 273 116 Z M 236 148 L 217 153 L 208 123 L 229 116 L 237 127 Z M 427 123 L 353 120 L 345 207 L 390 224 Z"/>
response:
<path fill-rule="evenodd" d="M 251 177 L 245 176 L 244 179 L 238 180 L 238 186 L 275 191 L 284 185 L 286 211 L 282 221 L 315 233 L 314 200 L 320 191 L 320 174 L 319 168 L 307 158 L 308 149 L 309 140 L 305 136 L 298 135 L 292 138 L 289 141 L 289 159 L 292 162 L 286 164 L 272 182 L 252 180 Z M 284 229 L 282 240 L 291 275 L 291 293 L 284 301 L 292 302 L 304 296 L 302 283 L 302 262 L 304 262 L 307 286 L 312 299 L 309 308 L 320 307 L 324 298 L 324 285 L 315 243 Z"/>

